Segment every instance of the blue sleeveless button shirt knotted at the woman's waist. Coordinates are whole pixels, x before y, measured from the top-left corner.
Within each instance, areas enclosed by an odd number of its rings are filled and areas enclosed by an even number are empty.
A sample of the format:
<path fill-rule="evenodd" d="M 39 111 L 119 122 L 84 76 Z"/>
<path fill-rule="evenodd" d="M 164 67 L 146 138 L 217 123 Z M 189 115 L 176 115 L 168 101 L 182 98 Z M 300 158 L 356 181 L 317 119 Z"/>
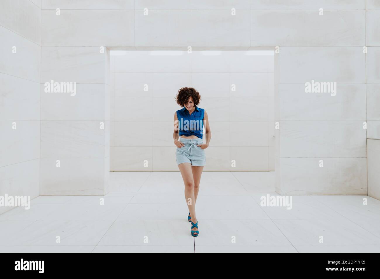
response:
<path fill-rule="evenodd" d="M 184 107 L 183 109 L 177 110 L 177 118 L 179 136 L 195 135 L 201 139 L 203 138 L 204 109 L 195 107 L 195 110 L 190 115 Z"/>

